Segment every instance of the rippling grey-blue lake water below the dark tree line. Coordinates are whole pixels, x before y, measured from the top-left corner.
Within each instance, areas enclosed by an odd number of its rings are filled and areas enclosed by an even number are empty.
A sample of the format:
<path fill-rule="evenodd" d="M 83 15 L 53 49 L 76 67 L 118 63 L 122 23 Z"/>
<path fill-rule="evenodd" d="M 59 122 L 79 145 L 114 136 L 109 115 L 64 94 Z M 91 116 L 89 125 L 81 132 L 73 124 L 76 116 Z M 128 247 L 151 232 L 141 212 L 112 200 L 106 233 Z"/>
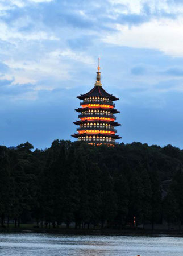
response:
<path fill-rule="evenodd" d="M 0 234 L 3 256 L 182 256 L 183 238 Z"/>

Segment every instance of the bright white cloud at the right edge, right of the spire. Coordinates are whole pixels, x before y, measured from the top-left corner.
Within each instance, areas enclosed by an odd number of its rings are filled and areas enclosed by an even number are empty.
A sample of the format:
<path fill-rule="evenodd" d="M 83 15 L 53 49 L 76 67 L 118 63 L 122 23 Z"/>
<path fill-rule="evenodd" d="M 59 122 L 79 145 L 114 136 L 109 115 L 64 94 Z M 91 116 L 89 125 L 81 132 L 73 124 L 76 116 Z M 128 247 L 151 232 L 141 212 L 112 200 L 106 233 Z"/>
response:
<path fill-rule="evenodd" d="M 103 42 L 116 46 L 159 49 L 167 55 L 183 57 L 183 18 L 151 20 L 138 27 L 117 24 L 118 32 L 104 36 Z"/>

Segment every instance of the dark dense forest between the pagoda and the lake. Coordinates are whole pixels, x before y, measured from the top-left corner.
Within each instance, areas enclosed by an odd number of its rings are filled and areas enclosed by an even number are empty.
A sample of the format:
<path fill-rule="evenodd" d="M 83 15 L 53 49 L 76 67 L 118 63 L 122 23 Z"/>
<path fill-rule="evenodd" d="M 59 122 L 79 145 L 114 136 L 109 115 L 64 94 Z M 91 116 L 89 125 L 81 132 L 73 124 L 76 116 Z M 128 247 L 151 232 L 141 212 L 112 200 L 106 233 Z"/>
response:
<path fill-rule="evenodd" d="M 53 141 L 0 147 L 1 226 L 146 228 L 183 223 L 183 151 L 140 142 L 116 147 Z"/>

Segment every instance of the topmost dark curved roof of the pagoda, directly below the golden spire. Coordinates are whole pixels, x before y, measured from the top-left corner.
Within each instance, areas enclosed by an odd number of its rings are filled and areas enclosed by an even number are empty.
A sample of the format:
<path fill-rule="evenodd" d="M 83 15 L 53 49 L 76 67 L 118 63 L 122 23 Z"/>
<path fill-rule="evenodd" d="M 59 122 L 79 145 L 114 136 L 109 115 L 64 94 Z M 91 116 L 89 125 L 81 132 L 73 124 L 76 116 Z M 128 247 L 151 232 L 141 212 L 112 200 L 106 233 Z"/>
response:
<path fill-rule="evenodd" d="M 80 96 L 77 96 L 80 100 L 82 100 L 85 97 L 93 97 L 93 96 L 103 96 L 110 98 L 112 101 L 117 101 L 119 98 L 113 96 L 113 94 L 107 93 L 102 86 L 95 85 L 93 89 L 91 89 L 88 93 L 81 94 Z"/>

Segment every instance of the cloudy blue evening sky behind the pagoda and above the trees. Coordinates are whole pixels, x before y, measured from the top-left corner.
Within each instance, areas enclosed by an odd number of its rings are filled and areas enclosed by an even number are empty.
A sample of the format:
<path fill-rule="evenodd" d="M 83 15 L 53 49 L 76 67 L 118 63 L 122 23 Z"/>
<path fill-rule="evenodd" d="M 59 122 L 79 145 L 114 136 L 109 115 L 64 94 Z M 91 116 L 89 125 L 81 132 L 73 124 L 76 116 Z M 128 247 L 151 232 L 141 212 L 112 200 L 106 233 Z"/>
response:
<path fill-rule="evenodd" d="M 119 143 L 183 148 L 182 0 L 0 0 L 0 144 L 74 141 L 98 57 Z"/>

